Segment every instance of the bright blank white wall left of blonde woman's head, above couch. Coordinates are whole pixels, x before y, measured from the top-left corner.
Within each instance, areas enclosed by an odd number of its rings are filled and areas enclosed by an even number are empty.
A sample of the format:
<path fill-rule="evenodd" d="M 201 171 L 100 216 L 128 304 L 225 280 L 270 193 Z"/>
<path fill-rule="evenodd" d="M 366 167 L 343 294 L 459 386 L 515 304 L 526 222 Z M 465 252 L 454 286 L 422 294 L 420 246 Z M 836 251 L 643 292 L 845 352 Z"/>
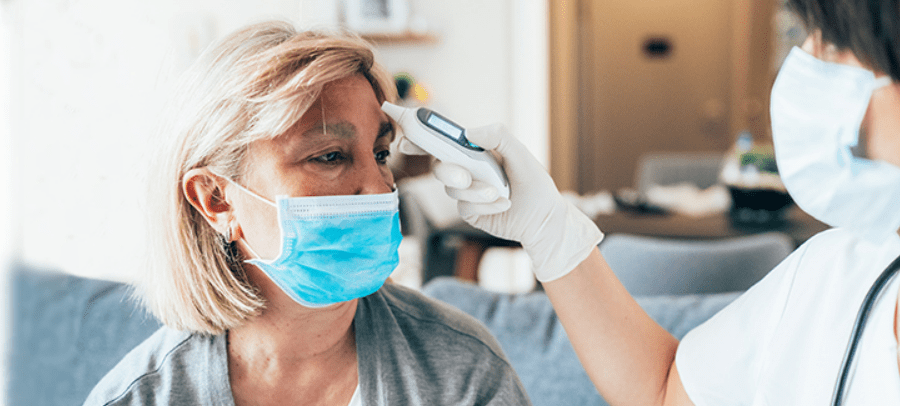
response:
<path fill-rule="evenodd" d="M 127 280 L 143 246 L 147 139 L 161 84 L 212 39 L 294 1 L 7 0 L 13 186 L 29 263 Z"/>

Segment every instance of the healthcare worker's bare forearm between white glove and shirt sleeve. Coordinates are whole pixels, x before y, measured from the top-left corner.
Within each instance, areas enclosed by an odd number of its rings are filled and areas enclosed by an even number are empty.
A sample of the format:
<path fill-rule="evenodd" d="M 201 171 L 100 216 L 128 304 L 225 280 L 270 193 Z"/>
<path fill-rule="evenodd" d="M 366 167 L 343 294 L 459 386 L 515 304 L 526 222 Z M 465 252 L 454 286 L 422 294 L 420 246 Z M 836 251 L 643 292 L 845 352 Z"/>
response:
<path fill-rule="evenodd" d="M 675 368 L 678 340 L 618 281 L 598 249 L 544 283 L 572 347 L 611 405 L 692 405 Z"/>

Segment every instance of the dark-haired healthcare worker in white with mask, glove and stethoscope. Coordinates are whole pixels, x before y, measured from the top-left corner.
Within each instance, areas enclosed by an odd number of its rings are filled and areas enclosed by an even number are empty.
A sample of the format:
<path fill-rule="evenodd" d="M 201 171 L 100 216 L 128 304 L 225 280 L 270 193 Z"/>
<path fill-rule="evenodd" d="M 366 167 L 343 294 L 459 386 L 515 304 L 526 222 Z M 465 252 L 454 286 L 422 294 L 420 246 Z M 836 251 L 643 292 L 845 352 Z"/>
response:
<path fill-rule="evenodd" d="M 504 161 L 509 200 L 461 167 L 435 169 L 466 221 L 522 243 L 610 404 L 900 405 L 900 278 L 884 273 L 900 256 L 900 2 L 789 3 L 812 35 L 772 89 L 776 158 L 797 204 L 835 228 L 681 343 L 618 282 L 595 224 L 502 128 L 467 136 Z"/>

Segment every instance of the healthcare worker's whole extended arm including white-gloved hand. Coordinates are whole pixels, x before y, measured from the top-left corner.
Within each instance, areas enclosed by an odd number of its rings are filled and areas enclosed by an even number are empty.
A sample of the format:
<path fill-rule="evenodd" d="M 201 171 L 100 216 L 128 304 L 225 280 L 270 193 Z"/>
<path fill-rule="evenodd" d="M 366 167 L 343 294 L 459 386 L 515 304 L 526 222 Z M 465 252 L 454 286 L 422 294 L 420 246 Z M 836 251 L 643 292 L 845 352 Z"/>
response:
<path fill-rule="evenodd" d="M 502 161 L 510 198 L 472 181 L 462 167 L 440 163 L 436 177 L 459 200 L 469 224 L 519 241 L 591 381 L 613 405 L 689 405 L 675 370 L 678 341 L 634 301 L 600 255 L 603 233 L 562 198 L 544 167 L 502 126 L 467 138 Z M 422 153 L 405 138 L 400 150 Z"/>

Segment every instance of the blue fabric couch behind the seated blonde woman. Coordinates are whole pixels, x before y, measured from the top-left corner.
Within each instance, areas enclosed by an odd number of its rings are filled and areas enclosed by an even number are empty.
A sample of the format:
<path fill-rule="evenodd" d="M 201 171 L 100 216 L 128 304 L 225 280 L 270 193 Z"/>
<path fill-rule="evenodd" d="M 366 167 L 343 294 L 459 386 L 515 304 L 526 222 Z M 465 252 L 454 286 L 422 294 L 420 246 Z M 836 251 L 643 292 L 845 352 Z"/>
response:
<path fill-rule="evenodd" d="M 15 266 L 9 405 L 79 405 L 160 324 L 127 286 Z M 503 295 L 449 278 L 424 292 L 481 320 L 500 341 L 535 405 L 603 405 L 546 295 Z M 638 302 L 681 337 L 736 294 L 647 297 Z"/>

